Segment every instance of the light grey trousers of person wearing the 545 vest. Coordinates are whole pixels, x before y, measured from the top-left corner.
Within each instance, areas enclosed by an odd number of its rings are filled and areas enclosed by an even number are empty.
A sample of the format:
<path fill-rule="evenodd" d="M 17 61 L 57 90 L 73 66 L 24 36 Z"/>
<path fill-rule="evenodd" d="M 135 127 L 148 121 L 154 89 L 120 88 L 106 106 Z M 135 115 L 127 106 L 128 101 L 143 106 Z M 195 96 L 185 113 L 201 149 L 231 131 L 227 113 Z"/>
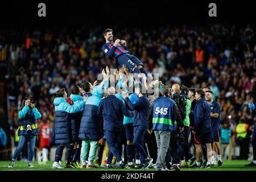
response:
<path fill-rule="evenodd" d="M 171 131 L 154 131 L 156 144 L 158 146 L 158 158 L 156 159 L 156 169 L 166 166 L 166 154 L 171 138 Z"/>

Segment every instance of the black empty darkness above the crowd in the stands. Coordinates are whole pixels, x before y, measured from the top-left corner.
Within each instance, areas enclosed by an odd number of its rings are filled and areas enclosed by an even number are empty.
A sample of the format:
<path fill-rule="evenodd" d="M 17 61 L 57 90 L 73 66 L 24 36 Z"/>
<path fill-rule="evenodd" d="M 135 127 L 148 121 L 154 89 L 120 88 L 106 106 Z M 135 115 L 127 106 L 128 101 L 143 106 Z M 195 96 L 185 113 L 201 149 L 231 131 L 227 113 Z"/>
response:
<path fill-rule="evenodd" d="M 38 4 L 46 3 L 46 17 L 38 16 Z M 217 17 L 208 16 L 208 5 L 217 5 Z M 166 24 L 253 23 L 253 1 L 3 1 L 1 27 L 22 30 L 46 26 L 135 26 Z"/>

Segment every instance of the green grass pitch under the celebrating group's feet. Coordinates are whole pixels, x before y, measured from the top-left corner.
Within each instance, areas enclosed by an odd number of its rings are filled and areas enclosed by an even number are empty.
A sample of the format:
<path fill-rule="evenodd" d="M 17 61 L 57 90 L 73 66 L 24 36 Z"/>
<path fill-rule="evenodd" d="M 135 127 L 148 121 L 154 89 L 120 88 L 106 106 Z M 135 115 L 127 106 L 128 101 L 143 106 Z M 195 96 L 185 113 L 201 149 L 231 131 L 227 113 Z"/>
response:
<path fill-rule="evenodd" d="M 0 161 L 0 171 L 144 171 L 144 169 L 74 169 L 74 168 L 63 168 L 63 169 L 53 169 L 52 163 L 47 162 L 46 164 L 38 164 L 38 162 L 33 162 L 34 168 L 28 168 L 27 162 L 15 162 L 13 168 L 8 168 L 9 161 Z M 249 160 L 224 160 L 223 167 L 214 166 L 210 169 L 193 169 L 193 168 L 181 168 L 181 171 L 256 171 L 256 167 L 245 167 L 245 164 L 250 163 Z M 64 162 L 61 164 L 64 167 Z M 155 171 L 154 168 L 146 169 L 145 171 Z"/>

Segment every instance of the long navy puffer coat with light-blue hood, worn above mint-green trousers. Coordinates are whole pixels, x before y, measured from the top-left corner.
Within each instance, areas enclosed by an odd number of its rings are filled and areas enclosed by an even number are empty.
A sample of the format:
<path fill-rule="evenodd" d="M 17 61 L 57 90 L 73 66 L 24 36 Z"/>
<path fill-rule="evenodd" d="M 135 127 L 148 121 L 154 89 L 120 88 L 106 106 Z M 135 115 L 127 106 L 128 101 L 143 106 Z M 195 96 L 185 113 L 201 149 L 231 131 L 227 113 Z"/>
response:
<path fill-rule="evenodd" d="M 95 86 L 92 96 L 88 98 L 82 112 L 79 139 L 98 141 L 102 137 L 101 120 L 97 116 L 97 109 L 102 100 L 104 88 Z"/>

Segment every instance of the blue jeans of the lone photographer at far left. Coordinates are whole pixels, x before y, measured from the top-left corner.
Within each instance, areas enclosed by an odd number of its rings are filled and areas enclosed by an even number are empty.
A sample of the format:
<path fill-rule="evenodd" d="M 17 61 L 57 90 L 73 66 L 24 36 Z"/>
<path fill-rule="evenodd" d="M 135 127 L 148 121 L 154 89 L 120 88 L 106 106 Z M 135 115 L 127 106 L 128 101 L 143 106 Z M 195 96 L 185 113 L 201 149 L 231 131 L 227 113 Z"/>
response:
<path fill-rule="evenodd" d="M 14 152 L 13 158 L 12 158 L 13 161 L 15 161 L 18 158 L 19 152 L 20 152 L 20 150 L 22 150 L 22 147 L 23 147 L 24 143 L 26 142 L 26 140 L 30 141 L 30 154 L 28 156 L 28 162 L 32 162 L 33 157 L 34 157 L 34 152 L 35 152 L 36 136 L 25 137 L 24 135 L 19 136 L 19 143 L 18 143 L 18 146 L 17 146 L 17 148 Z"/>

